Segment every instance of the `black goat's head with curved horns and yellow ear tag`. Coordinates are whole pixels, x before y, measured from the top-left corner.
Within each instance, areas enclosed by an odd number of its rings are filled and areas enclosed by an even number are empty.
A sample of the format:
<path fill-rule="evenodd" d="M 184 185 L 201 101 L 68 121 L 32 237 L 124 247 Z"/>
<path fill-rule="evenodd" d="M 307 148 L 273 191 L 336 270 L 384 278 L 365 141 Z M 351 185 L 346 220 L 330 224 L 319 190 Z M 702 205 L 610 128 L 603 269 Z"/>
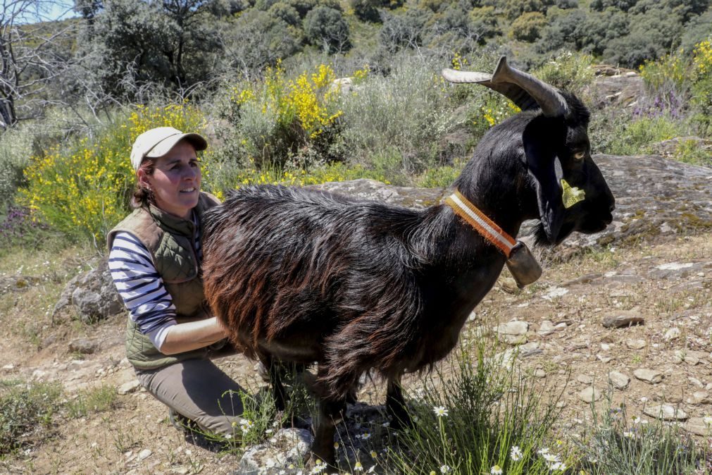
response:
<path fill-rule="evenodd" d="M 591 158 L 588 139 L 589 113 L 575 95 L 564 93 L 532 75 L 508 66 L 502 57 L 494 74 L 453 71 L 443 76 L 453 83 L 478 83 L 505 95 L 523 111 L 527 120 L 518 120 L 521 130 L 523 165 L 536 194 L 541 221 L 540 243 L 559 244 L 572 231 L 592 234 L 612 221 L 614 198 L 606 180 Z M 504 122 L 496 127 L 511 127 Z M 580 199 L 567 200 L 577 193 Z"/>

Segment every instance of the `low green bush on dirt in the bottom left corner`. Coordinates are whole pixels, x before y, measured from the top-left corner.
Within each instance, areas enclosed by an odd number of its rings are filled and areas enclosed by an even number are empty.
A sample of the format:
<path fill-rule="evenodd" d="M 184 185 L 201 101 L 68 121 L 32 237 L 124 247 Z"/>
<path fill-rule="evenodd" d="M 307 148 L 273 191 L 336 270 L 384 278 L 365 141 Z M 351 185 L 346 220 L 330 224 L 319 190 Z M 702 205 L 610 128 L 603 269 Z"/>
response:
<path fill-rule="evenodd" d="M 0 456 L 46 437 L 61 395 L 56 383 L 0 381 Z"/>

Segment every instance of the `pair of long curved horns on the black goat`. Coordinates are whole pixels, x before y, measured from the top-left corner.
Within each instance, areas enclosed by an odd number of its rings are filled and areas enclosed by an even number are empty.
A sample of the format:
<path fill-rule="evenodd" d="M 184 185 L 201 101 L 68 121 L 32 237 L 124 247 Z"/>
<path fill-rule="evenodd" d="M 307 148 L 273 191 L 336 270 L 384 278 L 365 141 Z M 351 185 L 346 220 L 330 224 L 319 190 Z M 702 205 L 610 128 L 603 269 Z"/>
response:
<path fill-rule="evenodd" d="M 454 71 L 444 69 L 442 75 L 451 83 L 478 83 L 506 96 L 521 110 L 541 108 L 547 117 L 560 117 L 569 112 L 564 97 L 556 88 L 538 80 L 533 75 L 519 71 L 507 64 L 502 56 L 494 74 Z"/>

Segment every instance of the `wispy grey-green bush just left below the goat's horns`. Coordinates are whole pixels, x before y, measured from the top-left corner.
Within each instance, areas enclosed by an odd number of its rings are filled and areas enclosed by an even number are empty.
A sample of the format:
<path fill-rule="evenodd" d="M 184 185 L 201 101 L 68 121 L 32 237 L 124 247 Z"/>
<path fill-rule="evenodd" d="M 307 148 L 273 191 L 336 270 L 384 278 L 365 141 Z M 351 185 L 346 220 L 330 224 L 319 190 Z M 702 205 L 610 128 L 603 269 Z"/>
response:
<path fill-rule="evenodd" d="M 451 147 L 444 137 L 466 127 L 468 111 L 478 104 L 471 99 L 464 103 L 458 99 L 456 104 L 449 100 L 449 92 L 456 95 L 459 88 L 450 88 L 441 79 L 437 71 L 442 66 L 441 61 L 400 56 L 392 61 L 387 77 L 368 75 L 344 95 L 342 135 L 350 162 L 367 165 L 371 157 L 389 148 L 402 160 L 400 169 L 419 173 L 466 153 L 464 147 Z"/>

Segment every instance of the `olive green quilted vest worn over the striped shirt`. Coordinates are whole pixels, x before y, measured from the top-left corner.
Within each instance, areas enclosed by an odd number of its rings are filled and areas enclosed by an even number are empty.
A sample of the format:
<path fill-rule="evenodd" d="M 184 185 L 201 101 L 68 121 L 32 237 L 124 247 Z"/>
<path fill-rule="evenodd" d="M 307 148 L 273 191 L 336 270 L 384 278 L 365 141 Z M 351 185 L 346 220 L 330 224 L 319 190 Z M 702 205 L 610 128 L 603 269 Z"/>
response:
<path fill-rule="evenodd" d="M 209 193 L 201 192 L 197 207 L 198 222 L 206 209 L 219 201 Z M 109 249 L 117 232 L 125 231 L 142 242 L 151 253 L 156 271 L 170 294 L 176 308 L 176 320 L 184 323 L 209 317 L 203 293 L 203 280 L 194 248 L 195 225 L 192 219 L 173 216 L 153 205 L 135 209 L 123 221 L 109 231 Z M 202 236 L 203 230 L 200 229 Z M 188 358 L 204 357 L 206 348 L 164 355 L 153 345 L 150 338 L 140 332 L 138 325 L 129 317 L 126 328 L 127 359 L 140 370 L 152 370 Z"/>

